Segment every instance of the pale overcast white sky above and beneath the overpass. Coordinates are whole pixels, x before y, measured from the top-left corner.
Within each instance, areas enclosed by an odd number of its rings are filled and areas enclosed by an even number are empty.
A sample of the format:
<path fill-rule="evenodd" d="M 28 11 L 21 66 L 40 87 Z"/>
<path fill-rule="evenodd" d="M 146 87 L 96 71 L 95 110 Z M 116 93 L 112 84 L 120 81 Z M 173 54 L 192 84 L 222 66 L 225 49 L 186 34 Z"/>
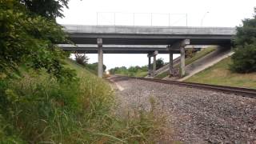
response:
<path fill-rule="evenodd" d="M 64 9 L 65 18 L 57 21 L 96 25 L 98 15 L 99 25 L 229 27 L 241 25 L 243 18 L 251 18 L 254 6 L 256 0 L 70 0 L 69 9 Z M 97 54 L 87 55 L 89 62 L 97 62 Z M 158 54 L 157 58 L 168 62 L 166 54 Z M 104 64 L 107 69 L 144 66 L 147 57 L 146 54 L 104 54 Z"/>

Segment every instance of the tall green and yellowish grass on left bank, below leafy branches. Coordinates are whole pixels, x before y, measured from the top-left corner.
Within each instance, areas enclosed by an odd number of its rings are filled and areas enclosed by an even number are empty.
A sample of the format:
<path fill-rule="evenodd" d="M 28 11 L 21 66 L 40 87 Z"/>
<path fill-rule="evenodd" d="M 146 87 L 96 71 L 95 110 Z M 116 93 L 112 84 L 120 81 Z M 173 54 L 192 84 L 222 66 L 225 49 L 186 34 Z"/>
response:
<path fill-rule="evenodd" d="M 58 82 L 32 71 L 0 86 L 0 143 L 150 143 L 162 131 L 154 110 L 112 114 L 113 91 L 93 74 Z"/>

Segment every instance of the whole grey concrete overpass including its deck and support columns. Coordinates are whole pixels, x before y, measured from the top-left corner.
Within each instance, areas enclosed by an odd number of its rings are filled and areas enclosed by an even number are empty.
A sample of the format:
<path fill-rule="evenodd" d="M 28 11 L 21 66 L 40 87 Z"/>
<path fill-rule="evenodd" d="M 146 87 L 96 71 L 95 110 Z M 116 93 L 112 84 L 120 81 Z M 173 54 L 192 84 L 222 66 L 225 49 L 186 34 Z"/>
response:
<path fill-rule="evenodd" d="M 98 53 L 98 76 L 102 77 L 103 53 L 170 54 L 170 74 L 173 71 L 173 54 L 181 54 L 181 74 L 185 74 L 185 47 L 189 45 L 230 46 L 236 33 L 232 27 L 188 26 L 82 26 L 62 25 L 72 42 L 78 46 L 61 44 L 63 50 Z"/>

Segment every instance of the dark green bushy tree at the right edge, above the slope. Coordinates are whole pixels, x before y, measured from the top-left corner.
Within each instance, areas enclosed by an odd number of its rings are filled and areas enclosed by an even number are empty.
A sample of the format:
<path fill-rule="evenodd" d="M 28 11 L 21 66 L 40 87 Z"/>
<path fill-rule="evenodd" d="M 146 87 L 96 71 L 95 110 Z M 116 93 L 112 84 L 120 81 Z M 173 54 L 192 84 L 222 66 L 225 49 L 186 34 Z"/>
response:
<path fill-rule="evenodd" d="M 256 71 L 256 15 L 254 18 L 246 18 L 242 26 L 237 27 L 234 38 L 233 64 L 230 70 L 238 73 L 250 73 Z"/>

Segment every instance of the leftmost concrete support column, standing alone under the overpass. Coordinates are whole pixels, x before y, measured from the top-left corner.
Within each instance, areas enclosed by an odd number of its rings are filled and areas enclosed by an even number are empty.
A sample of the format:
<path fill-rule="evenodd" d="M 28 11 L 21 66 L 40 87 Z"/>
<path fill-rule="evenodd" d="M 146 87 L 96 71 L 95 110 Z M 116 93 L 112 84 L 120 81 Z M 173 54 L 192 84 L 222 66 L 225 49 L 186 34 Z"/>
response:
<path fill-rule="evenodd" d="M 102 50 L 102 38 L 97 38 L 98 44 L 98 77 L 103 77 L 103 50 Z"/>

